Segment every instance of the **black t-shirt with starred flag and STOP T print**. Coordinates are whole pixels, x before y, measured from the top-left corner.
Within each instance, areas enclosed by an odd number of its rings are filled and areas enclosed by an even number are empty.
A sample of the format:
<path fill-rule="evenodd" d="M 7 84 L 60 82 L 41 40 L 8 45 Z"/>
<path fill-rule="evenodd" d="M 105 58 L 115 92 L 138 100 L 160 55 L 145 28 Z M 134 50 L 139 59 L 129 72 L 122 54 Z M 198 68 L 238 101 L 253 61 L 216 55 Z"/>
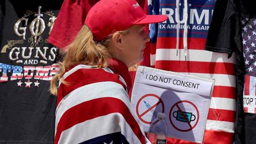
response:
<path fill-rule="evenodd" d="M 237 57 L 236 143 L 256 141 L 256 1 L 218 0 L 205 50 Z"/>

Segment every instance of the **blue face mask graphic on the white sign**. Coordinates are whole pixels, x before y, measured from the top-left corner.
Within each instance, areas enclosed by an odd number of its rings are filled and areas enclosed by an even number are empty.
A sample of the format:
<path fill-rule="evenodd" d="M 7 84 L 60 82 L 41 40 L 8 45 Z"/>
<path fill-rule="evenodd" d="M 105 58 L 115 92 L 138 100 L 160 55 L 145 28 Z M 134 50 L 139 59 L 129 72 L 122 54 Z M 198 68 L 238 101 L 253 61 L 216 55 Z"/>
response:
<path fill-rule="evenodd" d="M 185 123 L 187 123 L 187 121 L 190 123 L 191 121 L 195 121 L 195 119 L 196 119 L 196 116 L 193 115 L 192 113 L 188 113 L 185 111 L 179 111 L 179 110 L 174 111 L 172 113 L 172 116 L 175 117 L 177 121 L 185 122 Z"/>

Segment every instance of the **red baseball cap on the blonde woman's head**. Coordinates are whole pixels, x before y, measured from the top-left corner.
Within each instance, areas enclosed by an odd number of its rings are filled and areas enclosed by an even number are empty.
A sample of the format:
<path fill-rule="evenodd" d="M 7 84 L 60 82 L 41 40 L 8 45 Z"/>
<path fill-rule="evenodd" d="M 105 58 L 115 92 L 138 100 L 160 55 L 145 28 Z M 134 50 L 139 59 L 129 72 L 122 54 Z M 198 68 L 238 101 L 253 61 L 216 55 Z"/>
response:
<path fill-rule="evenodd" d="M 146 15 L 135 0 L 101 0 L 87 13 L 84 23 L 94 39 L 101 41 L 115 31 L 166 19 L 167 15 Z"/>

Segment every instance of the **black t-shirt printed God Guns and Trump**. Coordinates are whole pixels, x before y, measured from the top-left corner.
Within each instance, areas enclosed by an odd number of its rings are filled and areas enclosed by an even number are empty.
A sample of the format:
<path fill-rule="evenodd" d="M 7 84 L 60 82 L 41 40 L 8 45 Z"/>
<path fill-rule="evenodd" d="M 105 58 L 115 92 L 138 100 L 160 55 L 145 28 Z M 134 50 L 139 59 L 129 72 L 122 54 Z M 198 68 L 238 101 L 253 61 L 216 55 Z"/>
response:
<path fill-rule="evenodd" d="M 0 143 L 53 143 L 58 49 L 46 39 L 61 4 L 0 1 Z"/>

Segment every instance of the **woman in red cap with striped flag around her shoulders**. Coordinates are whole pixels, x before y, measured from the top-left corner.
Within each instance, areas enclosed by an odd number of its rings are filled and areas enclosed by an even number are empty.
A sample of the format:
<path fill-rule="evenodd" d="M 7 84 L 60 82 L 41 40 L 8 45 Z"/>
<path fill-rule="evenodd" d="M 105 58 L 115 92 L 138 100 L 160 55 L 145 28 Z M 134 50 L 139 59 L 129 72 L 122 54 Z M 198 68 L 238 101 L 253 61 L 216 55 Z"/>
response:
<path fill-rule="evenodd" d="M 51 81 L 58 93 L 55 143 L 146 143 L 127 95 L 128 67 L 143 60 L 145 24 L 166 19 L 146 15 L 135 0 L 101 0 L 91 8 Z"/>

